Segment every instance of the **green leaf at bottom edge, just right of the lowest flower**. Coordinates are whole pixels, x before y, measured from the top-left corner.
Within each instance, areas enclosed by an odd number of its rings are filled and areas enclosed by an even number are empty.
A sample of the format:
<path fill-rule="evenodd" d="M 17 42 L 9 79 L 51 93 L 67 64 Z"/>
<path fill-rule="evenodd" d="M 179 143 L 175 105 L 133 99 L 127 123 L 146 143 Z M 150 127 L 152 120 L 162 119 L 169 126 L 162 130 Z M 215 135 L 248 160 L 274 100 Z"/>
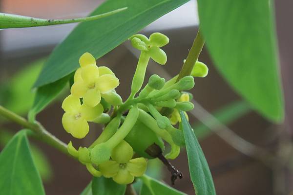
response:
<path fill-rule="evenodd" d="M 165 183 L 158 181 L 152 177 L 144 175 L 142 177 L 143 185 L 141 188 L 140 195 L 186 195 Z"/>

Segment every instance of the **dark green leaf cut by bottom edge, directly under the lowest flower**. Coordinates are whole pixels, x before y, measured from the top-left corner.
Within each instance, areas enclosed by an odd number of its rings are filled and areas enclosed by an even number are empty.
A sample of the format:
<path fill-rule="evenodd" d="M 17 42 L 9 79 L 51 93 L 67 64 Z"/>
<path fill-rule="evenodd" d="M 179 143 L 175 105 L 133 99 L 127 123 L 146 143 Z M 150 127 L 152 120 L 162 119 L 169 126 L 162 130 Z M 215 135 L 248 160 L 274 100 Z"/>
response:
<path fill-rule="evenodd" d="M 112 178 L 93 177 L 92 193 L 93 195 L 124 195 L 126 185 L 120 185 Z"/>

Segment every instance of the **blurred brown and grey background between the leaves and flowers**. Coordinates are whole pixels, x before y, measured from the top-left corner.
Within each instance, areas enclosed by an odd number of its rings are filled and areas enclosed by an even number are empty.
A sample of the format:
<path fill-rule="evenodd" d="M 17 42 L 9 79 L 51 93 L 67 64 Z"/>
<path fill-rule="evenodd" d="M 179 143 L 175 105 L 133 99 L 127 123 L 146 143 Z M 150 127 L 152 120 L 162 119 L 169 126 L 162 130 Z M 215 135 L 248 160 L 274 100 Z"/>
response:
<path fill-rule="evenodd" d="M 1 0 L 0 9 L 1 12 L 38 18 L 72 18 L 86 16 L 101 2 L 102 0 Z M 250 112 L 229 125 L 230 129 L 245 140 L 272 148 L 272 150 L 280 148 L 283 137 L 291 140 L 290 126 L 293 125 L 293 77 L 291 76 L 293 72 L 293 1 L 276 0 L 275 8 L 286 99 L 286 121 L 282 125 L 273 125 L 255 112 Z M 146 35 L 160 31 L 170 38 L 170 43 L 164 48 L 168 56 L 167 65 L 161 67 L 151 63 L 148 69 L 150 73 L 156 72 L 165 76 L 167 72 L 174 76 L 180 71 L 182 61 L 187 56 L 196 35 L 198 23 L 196 1 L 191 0 L 143 30 Z M 0 82 L 5 82 L 3 78 L 13 75 L 29 62 L 48 56 L 54 46 L 62 41 L 75 25 L 0 31 Z M 137 63 L 136 54 L 130 49 L 129 44 L 125 43 L 97 61 L 98 66 L 110 67 L 120 79 L 121 85 L 117 91 L 124 99 L 130 92 L 131 75 Z M 196 78 L 196 85 L 192 90 L 194 99 L 200 105 L 212 112 L 234 100 L 241 99 L 218 74 L 205 49 L 200 55 L 200 61 L 209 66 L 209 75 L 206 78 Z M 71 137 L 63 130 L 61 124 L 62 114 L 63 110 L 57 102 L 43 111 L 38 116 L 38 120 L 58 138 L 69 142 Z M 191 122 L 197 121 L 191 115 L 190 118 Z M 8 124 L 8 126 L 18 130 L 17 125 Z M 83 141 L 74 140 L 74 142 L 86 145 L 93 141 L 99 134 L 100 126 L 93 127 L 97 128 L 96 132 L 91 130 Z M 44 184 L 46 194 L 79 195 L 91 178 L 84 166 L 45 144 L 36 143 L 48 155 L 53 166 L 53 178 Z M 209 162 L 218 195 L 289 195 L 289 192 L 293 190 L 291 171 L 278 163 L 268 166 L 255 158 L 247 157 L 217 135 L 211 135 L 200 143 Z M 172 162 L 185 176 L 177 181 L 174 187 L 193 195 L 193 186 L 188 176 L 187 157 L 184 152 Z M 167 172 L 165 172 L 165 181 L 169 183 Z"/>

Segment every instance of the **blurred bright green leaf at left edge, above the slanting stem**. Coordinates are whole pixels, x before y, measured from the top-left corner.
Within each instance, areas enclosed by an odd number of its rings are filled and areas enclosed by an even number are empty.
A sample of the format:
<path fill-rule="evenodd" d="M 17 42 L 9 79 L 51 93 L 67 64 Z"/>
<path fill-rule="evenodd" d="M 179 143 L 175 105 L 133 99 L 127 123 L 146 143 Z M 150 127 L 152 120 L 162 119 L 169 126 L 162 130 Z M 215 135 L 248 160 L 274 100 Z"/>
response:
<path fill-rule="evenodd" d="M 0 85 L 0 104 L 17 113 L 25 114 L 33 105 L 34 92 L 31 90 L 37 79 L 44 59 L 27 65 Z"/>

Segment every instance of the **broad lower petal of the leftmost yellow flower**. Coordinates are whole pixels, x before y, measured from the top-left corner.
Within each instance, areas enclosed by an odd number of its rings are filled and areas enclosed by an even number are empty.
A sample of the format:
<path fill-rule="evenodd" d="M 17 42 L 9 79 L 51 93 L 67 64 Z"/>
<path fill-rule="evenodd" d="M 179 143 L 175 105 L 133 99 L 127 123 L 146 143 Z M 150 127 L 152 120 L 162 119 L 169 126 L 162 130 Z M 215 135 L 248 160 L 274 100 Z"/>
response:
<path fill-rule="evenodd" d="M 62 124 L 67 133 L 78 139 L 84 138 L 89 130 L 87 122 L 82 117 L 76 119 L 75 115 L 66 112 L 63 114 Z"/>

